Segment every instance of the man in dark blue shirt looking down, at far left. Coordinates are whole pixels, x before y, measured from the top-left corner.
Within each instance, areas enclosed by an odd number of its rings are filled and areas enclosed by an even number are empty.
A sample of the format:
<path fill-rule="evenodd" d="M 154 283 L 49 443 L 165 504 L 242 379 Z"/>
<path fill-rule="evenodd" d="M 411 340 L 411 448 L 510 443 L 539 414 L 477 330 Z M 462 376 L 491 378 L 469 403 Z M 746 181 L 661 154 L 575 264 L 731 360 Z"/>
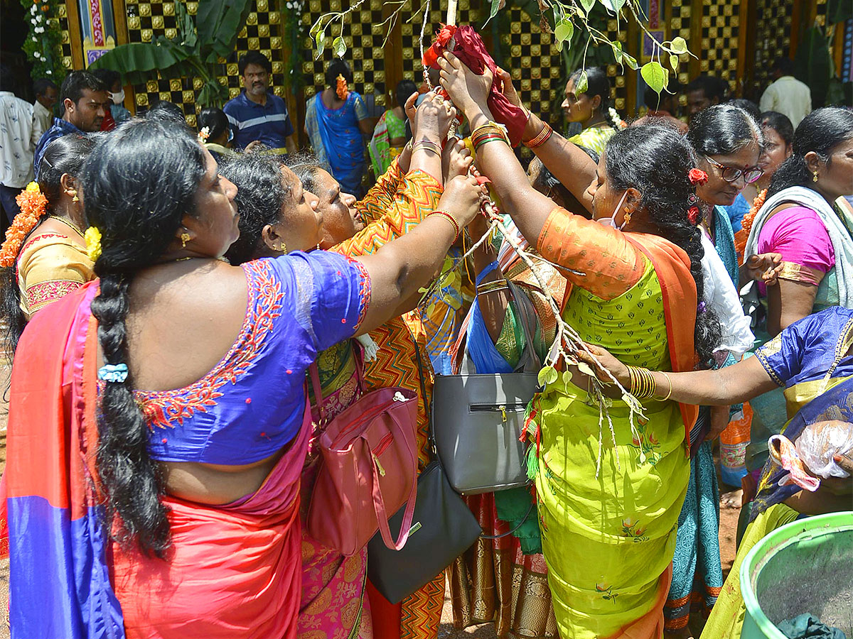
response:
<path fill-rule="evenodd" d="M 44 132 L 36 145 L 32 166 L 38 180 L 38 165 L 42 164 L 44 149 L 50 142 L 69 133 L 85 134 L 101 130 L 104 115 L 109 109 L 107 87 L 88 71 L 70 72 L 59 89 L 65 113 L 54 118 L 54 124 Z"/>

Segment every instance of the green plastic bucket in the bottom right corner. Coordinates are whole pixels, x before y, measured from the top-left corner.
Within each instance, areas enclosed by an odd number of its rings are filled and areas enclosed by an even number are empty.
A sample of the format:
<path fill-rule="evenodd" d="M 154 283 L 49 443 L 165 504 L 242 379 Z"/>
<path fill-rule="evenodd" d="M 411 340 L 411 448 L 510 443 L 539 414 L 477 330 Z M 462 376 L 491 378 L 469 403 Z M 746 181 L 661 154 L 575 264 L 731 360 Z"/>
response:
<path fill-rule="evenodd" d="M 853 512 L 792 521 L 740 565 L 741 639 L 786 639 L 776 624 L 812 613 L 853 639 Z"/>

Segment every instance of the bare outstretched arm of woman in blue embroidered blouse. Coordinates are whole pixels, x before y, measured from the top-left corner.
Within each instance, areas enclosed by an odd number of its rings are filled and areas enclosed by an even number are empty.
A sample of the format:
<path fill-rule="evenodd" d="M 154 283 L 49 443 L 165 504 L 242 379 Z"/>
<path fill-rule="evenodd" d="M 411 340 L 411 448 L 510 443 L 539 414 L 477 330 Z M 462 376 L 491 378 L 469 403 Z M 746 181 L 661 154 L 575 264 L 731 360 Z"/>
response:
<path fill-rule="evenodd" d="M 438 202 L 439 210 L 452 216 L 458 226 L 444 215 L 427 216 L 402 238 L 356 258 L 370 276 L 370 304 L 359 334 L 396 317 L 400 304 L 435 276 L 456 240 L 457 228 L 467 226 L 478 214 L 482 197 L 483 189 L 473 177 L 458 176 Z"/>

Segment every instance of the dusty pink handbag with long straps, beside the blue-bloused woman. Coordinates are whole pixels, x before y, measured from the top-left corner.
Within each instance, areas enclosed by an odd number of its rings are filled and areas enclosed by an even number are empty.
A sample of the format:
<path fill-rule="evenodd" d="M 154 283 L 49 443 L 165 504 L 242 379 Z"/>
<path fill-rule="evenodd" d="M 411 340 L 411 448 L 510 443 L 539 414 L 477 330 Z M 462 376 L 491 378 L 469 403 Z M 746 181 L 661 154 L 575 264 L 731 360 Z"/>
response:
<path fill-rule="evenodd" d="M 353 348 L 360 351 L 357 344 Z M 357 352 L 359 377 L 361 360 Z M 310 377 L 322 420 L 316 364 L 310 366 Z M 376 389 L 326 425 L 318 442 L 322 463 L 308 509 L 311 537 L 344 556 L 362 550 L 377 530 L 388 548 L 403 548 L 417 493 L 417 407 L 417 394 L 409 389 Z M 388 519 L 403 504 L 406 509 L 395 542 Z"/>

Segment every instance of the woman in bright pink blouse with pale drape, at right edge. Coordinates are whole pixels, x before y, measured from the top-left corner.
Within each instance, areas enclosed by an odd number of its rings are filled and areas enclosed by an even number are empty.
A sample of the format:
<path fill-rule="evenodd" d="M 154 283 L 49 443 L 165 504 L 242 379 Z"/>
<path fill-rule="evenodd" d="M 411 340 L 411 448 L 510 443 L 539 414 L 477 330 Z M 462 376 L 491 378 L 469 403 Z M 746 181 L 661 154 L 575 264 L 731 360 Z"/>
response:
<path fill-rule="evenodd" d="M 778 285 L 757 286 L 766 316 L 757 337 L 769 340 L 824 308 L 853 308 L 853 211 L 844 199 L 853 191 L 850 176 L 853 112 L 826 107 L 809 113 L 794 132 L 791 156 L 776 170 L 746 239 L 746 255 L 769 250 L 782 258 Z M 768 457 L 768 438 L 786 423 L 786 400 L 776 389 L 750 404 L 746 469 L 757 479 Z"/>

